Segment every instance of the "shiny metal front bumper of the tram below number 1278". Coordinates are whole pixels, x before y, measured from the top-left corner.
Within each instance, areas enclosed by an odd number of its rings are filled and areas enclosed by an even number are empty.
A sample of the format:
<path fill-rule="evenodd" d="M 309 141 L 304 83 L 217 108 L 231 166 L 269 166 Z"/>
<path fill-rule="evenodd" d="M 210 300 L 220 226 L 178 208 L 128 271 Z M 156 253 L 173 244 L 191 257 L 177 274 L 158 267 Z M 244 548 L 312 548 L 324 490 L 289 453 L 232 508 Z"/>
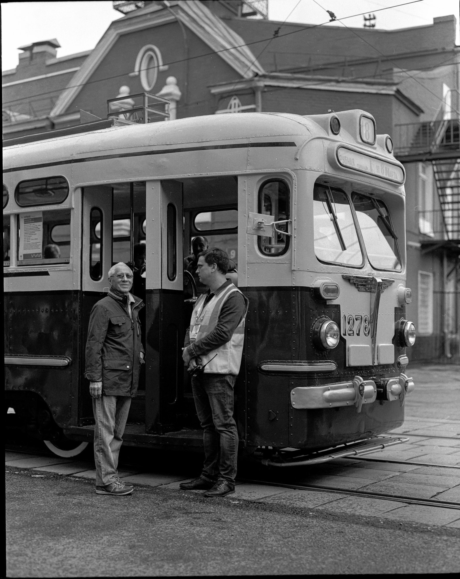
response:
<path fill-rule="evenodd" d="M 412 378 L 400 374 L 398 378 L 386 380 L 383 390 L 388 401 L 399 400 L 403 406 L 406 394 L 414 387 Z M 363 404 L 371 404 L 376 399 L 377 386 L 374 380 L 363 380 L 360 376 L 355 376 L 351 382 L 300 386 L 290 392 L 290 402 L 297 410 L 355 405 L 356 410 L 361 412 Z"/>

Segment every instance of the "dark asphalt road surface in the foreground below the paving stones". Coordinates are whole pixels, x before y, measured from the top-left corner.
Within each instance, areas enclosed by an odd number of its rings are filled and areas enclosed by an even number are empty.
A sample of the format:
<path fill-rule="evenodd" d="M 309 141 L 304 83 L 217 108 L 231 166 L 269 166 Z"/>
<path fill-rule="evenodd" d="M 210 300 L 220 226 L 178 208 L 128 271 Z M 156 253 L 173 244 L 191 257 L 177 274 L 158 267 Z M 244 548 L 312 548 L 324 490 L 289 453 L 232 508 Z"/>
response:
<path fill-rule="evenodd" d="M 9 577 L 460 570 L 460 533 L 6 468 Z"/>

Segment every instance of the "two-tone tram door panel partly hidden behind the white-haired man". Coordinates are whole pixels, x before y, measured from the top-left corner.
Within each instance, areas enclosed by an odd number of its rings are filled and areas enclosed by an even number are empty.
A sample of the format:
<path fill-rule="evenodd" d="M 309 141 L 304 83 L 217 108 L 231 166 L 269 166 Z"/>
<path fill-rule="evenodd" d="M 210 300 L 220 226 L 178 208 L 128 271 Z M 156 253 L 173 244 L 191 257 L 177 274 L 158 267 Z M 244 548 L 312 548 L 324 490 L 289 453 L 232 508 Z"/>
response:
<path fill-rule="evenodd" d="M 88 323 L 94 304 L 106 295 L 107 273 L 112 267 L 112 188 L 98 185 L 85 187 L 83 194 L 82 306 L 79 325 L 81 426 L 94 423 L 89 381 L 84 378 L 84 350 Z M 104 292 L 105 288 L 105 292 Z"/>

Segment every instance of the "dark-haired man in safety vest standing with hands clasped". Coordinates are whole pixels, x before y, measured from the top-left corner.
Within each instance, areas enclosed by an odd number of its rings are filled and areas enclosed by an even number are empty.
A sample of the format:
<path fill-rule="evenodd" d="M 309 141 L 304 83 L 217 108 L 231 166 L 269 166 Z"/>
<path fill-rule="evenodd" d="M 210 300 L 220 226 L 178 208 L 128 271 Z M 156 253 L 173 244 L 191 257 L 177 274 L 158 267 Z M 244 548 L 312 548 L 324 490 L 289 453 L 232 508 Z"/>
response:
<path fill-rule="evenodd" d="M 226 279 L 228 269 L 225 251 L 212 248 L 198 256 L 197 273 L 209 291 L 196 302 L 182 353 L 192 373 L 205 459 L 200 477 L 179 486 L 205 489 L 207 497 L 234 493 L 237 474 L 233 387 L 240 371 L 248 299 Z"/>

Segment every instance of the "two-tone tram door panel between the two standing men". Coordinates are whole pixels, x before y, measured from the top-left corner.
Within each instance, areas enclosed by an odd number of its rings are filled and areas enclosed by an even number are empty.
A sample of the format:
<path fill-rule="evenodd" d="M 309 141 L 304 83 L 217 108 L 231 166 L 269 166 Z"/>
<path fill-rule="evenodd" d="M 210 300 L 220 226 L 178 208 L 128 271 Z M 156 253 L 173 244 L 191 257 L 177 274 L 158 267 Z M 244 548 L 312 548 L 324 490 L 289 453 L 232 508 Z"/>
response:
<path fill-rule="evenodd" d="M 183 191 L 146 184 L 146 430 L 182 427 Z"/>

